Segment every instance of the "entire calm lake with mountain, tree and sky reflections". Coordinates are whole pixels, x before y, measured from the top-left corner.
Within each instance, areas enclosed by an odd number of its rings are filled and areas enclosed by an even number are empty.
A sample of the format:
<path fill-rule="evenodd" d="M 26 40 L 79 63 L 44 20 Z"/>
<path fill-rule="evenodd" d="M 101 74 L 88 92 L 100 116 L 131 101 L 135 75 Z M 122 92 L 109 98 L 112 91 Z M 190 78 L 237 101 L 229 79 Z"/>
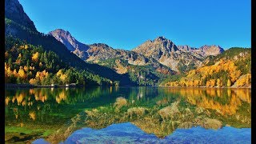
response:
<path fill-rule="evenodd" d="M 119 86 L 5 94 L 6 142 L 251 142 L 250 89 Z"/>

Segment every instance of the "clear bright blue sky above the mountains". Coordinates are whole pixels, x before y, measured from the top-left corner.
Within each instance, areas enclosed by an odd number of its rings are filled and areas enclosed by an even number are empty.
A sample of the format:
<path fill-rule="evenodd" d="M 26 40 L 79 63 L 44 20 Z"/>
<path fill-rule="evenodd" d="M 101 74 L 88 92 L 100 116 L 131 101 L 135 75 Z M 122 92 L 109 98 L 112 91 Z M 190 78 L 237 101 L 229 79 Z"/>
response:
<path fill-rule="evenodd" d="M 131 50 L 164 36 L 176 45 L 250 47 L 250 0 L 19 0 L 38 31 Z"/>

